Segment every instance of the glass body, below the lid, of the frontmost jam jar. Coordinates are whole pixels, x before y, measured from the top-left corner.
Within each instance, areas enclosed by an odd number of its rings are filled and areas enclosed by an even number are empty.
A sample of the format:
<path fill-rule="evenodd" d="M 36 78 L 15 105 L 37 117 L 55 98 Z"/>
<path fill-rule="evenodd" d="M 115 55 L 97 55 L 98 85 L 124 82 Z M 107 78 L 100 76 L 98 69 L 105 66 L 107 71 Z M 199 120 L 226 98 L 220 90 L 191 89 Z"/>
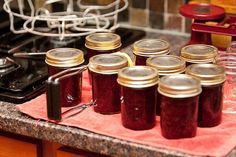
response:
<path fill-rule="evenodd" d="M 190 138 L 197 133 L 199 96 L 161 96 L 161 133 L 167 139 Z"/>

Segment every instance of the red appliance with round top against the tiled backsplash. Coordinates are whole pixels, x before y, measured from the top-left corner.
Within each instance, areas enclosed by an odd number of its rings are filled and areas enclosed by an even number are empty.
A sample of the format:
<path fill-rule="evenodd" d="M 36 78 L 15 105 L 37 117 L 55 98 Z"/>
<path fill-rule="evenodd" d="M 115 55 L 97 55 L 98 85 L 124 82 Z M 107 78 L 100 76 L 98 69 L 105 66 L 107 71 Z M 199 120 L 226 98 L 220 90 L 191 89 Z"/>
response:
<path fill-rule="evenodd" d="M 231 41 L 236 40 L 236 15 L 226 14 L 224 8 L 205 3 L 185 4 L 179 11 L 181 15 L 193 19 L 188 44 L 211 45 L 211 34 L 231 36 Z"/>

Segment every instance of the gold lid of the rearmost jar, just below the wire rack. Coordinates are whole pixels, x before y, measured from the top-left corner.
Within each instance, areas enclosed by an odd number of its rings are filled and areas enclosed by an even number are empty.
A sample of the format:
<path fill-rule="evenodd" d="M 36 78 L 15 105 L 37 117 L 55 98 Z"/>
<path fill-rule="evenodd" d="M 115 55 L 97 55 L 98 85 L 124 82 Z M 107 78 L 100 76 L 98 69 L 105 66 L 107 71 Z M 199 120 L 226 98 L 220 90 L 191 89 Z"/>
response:
<path fill-rule="evenodd" d="M 92 50 L 113 50 L 121 47 L 121 39 L 114 33 L 93 33 L 86 36 L 85 47 Z"/>

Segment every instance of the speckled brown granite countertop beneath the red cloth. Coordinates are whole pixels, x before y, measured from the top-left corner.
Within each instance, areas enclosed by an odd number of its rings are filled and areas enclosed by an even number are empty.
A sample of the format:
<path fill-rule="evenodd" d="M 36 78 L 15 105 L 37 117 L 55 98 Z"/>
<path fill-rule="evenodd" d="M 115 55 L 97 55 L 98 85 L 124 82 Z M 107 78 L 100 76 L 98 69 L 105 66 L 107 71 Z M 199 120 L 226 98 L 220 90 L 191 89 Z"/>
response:
<path fill-rule="evenodd" d="M 180 47 L 188 40 L 188 37 L 158 33 L 147 33 L 146 38 L 149 37 L 170 42 L 171 53 L 174 54 L 178 54 Z M 122 51 L 130 52 L 130 47 Z M 111 156 L 192 156 L 177 151 L 136 144 L 79 128 L 34 120 L 17 111 L 14 106 L 11 103 L 0 102 L 1 130 Z M 235 155 L 236 150 L 232 151 L 229 156 Z"/>

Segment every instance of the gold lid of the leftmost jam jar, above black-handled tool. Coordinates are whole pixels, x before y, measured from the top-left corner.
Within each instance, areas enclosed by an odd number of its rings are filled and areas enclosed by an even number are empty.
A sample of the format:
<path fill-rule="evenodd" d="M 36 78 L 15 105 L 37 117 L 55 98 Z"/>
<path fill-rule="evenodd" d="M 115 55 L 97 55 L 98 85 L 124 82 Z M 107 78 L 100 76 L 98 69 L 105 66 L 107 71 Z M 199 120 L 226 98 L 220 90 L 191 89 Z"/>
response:
<path fill-rule="evenodd" d="M 75 48 L 56 48 L 46 53 L 45 62 L 55 67 L 74 67 L 84 62 L 84 54 Z"/>

